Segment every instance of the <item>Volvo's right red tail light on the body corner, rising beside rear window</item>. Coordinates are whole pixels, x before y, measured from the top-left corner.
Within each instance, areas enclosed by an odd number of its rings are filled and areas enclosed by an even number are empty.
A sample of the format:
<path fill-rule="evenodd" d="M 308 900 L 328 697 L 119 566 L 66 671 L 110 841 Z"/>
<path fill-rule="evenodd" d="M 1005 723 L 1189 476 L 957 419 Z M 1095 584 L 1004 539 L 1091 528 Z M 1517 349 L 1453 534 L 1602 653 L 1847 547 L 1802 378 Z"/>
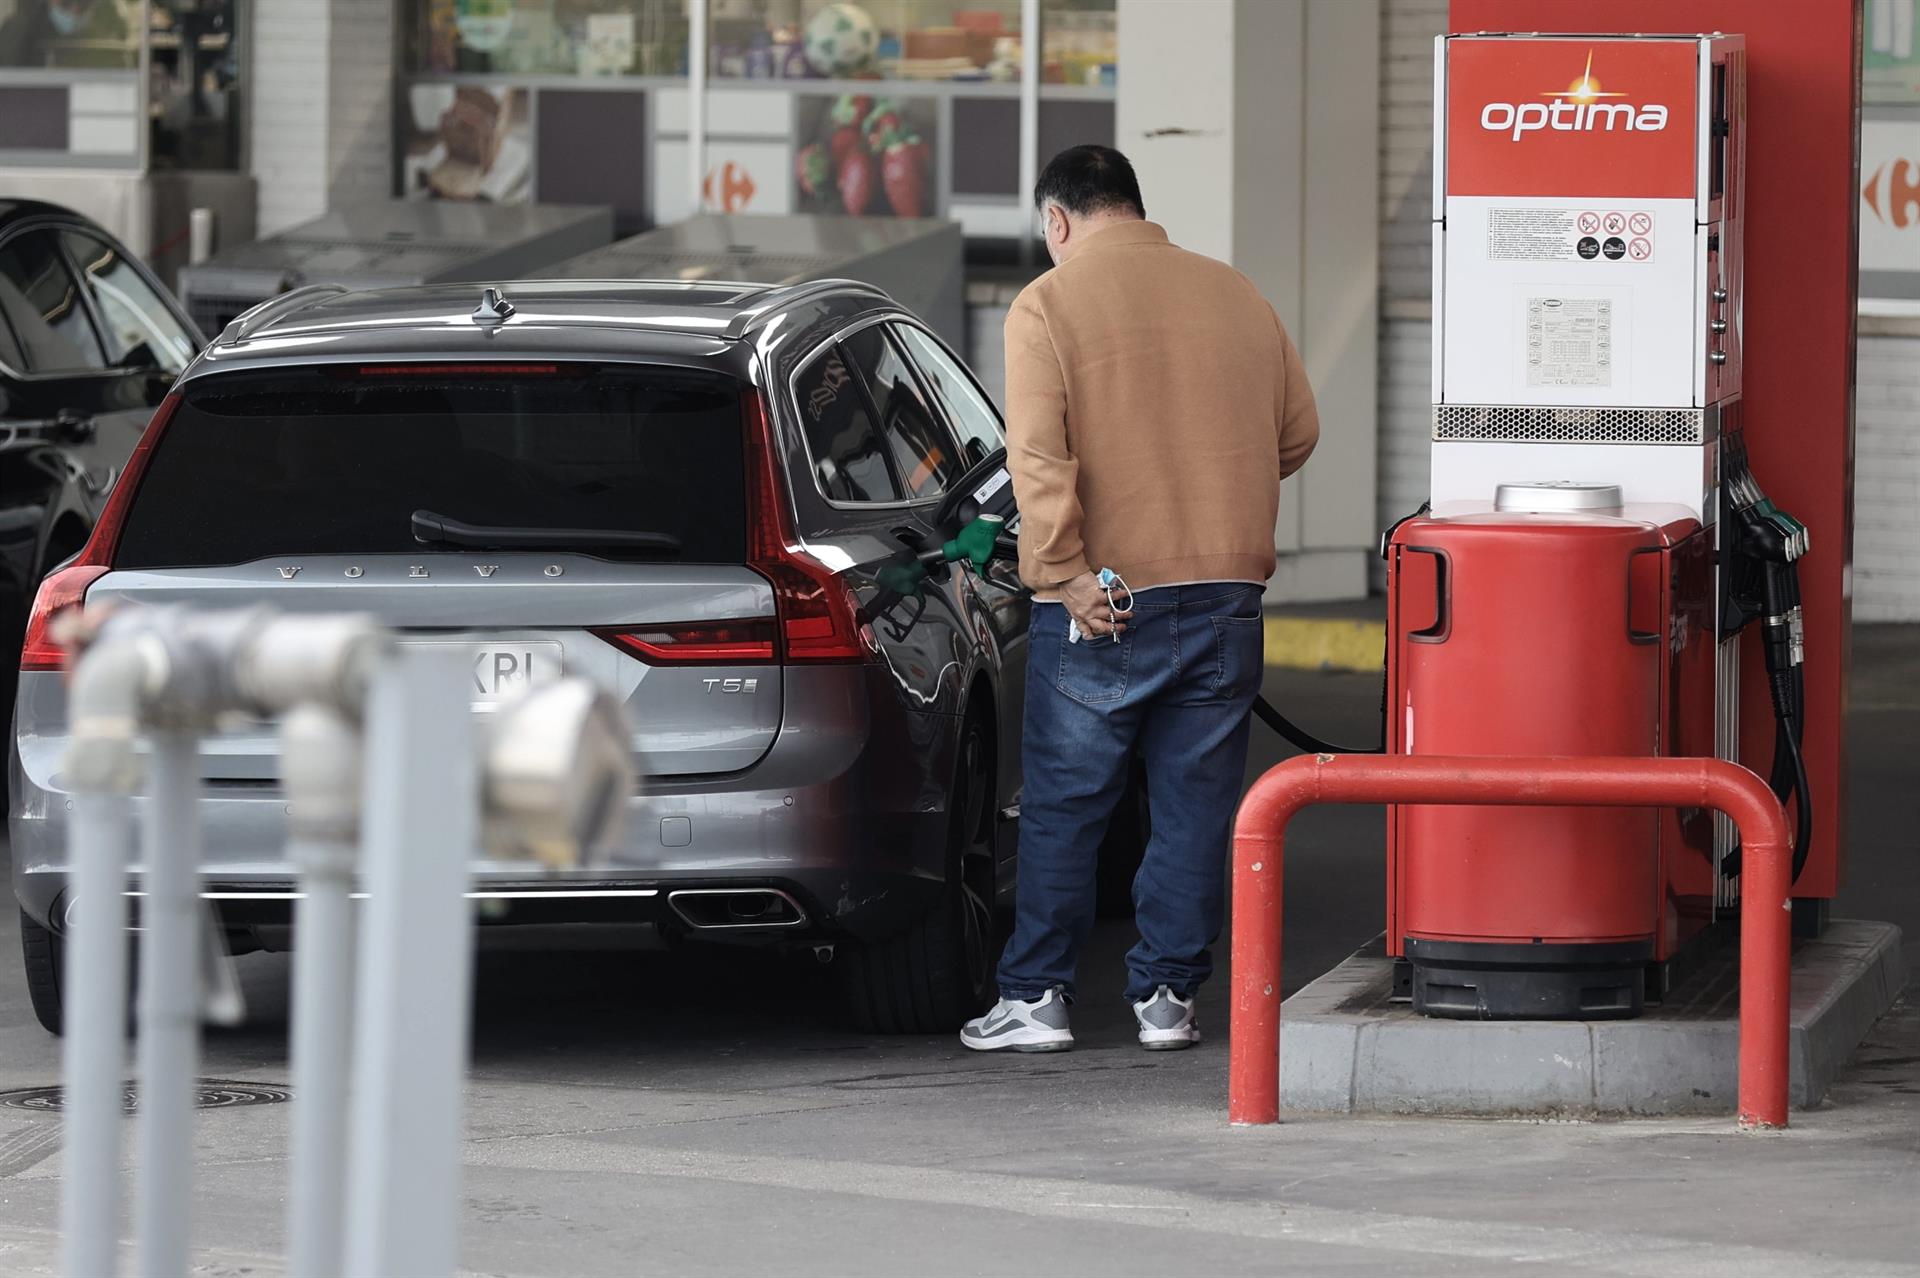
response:
<path fill-rule="evenodd" d="M 870 631 L 860 622 L 847 581 L 801 549 L 780 484 L 780 441 L 766 413 L 766 397 L 743 395 L 749 461 L 747 560 L 774 583 L 781 660 L 862 662 L 872 654 Z"/>

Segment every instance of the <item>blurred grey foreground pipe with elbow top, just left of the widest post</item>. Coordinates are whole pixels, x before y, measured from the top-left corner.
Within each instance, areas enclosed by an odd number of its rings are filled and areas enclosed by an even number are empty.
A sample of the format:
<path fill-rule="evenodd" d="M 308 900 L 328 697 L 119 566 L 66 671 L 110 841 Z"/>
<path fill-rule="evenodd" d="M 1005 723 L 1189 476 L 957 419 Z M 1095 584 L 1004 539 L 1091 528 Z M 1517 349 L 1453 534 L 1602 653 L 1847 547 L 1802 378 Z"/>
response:
<path fill-rule="evenodd" d="M 301 888 L 294 913 L 294 1172 L 286 1222 L 296 1278 L 344 1272 L 359 745 L 340 714 L 311 704 L 296 706 L 280 725 L 280 771 L 292 806 L 286 854 Z"/>

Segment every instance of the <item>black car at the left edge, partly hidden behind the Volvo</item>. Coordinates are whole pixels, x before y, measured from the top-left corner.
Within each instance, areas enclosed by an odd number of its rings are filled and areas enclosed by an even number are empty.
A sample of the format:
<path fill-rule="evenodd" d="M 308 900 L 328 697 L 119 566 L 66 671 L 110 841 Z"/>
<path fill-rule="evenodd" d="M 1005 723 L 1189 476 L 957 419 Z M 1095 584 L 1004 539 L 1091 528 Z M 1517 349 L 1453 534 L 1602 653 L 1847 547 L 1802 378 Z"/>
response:
<path fill-rule="evenodd" d="M 179 301 L 96 223 L 0 198 L 0 643 L 19 649 L 35 585 L 84 545 L 202 345 Z"/>

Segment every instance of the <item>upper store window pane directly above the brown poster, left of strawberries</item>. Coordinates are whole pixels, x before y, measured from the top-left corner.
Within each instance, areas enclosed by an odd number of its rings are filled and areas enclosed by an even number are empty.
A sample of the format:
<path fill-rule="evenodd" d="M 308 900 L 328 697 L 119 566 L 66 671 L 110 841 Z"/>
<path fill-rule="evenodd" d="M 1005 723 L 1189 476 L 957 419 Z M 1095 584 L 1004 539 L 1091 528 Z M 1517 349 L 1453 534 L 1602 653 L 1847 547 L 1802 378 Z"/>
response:
<path fill-rule="evenodd" d="M 403 0 L 415 73 L 685 75 L 684 0 Z"/>

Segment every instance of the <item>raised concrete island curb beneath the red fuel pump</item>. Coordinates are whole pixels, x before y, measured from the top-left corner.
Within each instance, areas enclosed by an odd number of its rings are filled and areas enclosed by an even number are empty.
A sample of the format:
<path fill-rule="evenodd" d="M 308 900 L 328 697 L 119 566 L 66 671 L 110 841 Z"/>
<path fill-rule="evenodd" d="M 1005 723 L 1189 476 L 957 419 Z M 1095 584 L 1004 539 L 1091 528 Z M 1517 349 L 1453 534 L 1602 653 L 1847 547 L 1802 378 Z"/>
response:
<path fill-rule="evenodd" d="M 1730 956 L 1701 996 L 1634 1021 L 1438 1021 L 1388 1004 L 1379 940 L 1281 1009 L 1281 1103 L 1332 1113 L 1718 1115 L 1734 1111 Z M 1818 1105 L 1907 984 L 1901 929 L 1836 921 L 1793 950 L 1789 1100 Z M 1690 988 L 1693 984 L 1690 982 Z"/>

